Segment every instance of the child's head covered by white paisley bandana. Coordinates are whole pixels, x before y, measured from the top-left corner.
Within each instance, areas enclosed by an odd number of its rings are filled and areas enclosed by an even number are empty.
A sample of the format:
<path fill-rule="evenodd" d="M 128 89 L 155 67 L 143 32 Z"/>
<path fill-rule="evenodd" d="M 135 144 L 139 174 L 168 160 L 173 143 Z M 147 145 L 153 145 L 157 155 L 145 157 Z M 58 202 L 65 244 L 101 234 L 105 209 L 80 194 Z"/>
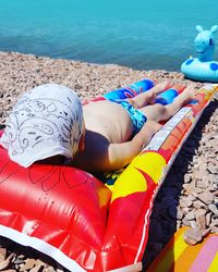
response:
<path fill-rule="evenodd" d="M 47 84 L 24 94 L 9 115 L 0 144 L 23 166 L 62 154 L 72 158 L 83 134 L 82 104 L 71 89 Z"/>

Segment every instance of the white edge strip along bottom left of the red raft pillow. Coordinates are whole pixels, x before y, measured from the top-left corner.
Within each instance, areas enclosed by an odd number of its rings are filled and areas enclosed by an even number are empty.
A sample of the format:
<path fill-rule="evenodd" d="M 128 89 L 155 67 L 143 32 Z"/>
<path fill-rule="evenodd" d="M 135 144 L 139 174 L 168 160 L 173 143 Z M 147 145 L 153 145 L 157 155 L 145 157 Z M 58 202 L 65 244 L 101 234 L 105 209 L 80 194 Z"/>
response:
<path fill-rule="evenodd" d="M 9 239 L 12 239 L 20 245 L 31 246 L 38 251 L 46 254 L 55 260 L 58 260 L 60 264 L 73 272 L 86 272 L 77 262 L 64 255 L 60 249 L 49 245 L 48 243 L 38 239 L 36 237 L 31 237 L 24 233 L 20 233 L 11 227 L 0 224 L 0 235 Z"/>

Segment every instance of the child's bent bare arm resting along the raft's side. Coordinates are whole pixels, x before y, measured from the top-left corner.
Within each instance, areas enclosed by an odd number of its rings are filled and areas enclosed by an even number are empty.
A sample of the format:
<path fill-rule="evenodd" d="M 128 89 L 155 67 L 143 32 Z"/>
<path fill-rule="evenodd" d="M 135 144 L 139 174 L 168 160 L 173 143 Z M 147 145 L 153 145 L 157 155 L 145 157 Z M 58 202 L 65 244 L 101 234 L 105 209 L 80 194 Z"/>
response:
<path fill-rule="evenodd" d="M 117 170 L 129 164 L 160 127 L 158 123 L 147 121 L 132 140 L 110 144 L 108 146 L 108 158 L 105 160 L 106 171 Z"/>

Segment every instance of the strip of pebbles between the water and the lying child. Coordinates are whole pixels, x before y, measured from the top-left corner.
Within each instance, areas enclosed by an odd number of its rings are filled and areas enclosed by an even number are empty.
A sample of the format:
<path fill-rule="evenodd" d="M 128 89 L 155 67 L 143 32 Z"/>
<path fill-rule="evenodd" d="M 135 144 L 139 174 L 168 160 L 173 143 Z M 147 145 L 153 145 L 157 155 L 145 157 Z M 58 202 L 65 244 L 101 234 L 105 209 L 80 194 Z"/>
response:
<path fill-rule="evenodd" d="M 117 64 L 102 65 L 2 51 L 0 59 L 0 97 L 3 99 L 0 107 L 4 109 L 3 114 L 0 113 L 0 123 L 5 121 L 11 104 L 21 94 L 40 84 L 64 85 L 74 89 L 82 99 L 88 99 L 143 78 L 185 85 L 193 83 L 179 72 L 166 70 L 137 71 Z M 194 85 L 203 86 L 202 83 Z"/>

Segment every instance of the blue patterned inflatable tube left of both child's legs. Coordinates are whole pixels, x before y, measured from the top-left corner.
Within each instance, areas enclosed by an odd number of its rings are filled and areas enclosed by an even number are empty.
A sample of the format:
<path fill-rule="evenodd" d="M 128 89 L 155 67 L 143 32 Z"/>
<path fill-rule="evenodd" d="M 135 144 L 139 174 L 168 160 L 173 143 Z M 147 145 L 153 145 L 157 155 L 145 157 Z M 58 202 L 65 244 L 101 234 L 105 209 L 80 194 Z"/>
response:
<path fill-rule="evenodd" d="M 134 97 L 143 91 L 150 89 L 154 86 L 154 82 L 150 79 L 143 79 L 132 85 L 128 85 L 124 88 L 119 88 L 106 94 L 104 97 L 108 100 L 125 99 Z"/>

